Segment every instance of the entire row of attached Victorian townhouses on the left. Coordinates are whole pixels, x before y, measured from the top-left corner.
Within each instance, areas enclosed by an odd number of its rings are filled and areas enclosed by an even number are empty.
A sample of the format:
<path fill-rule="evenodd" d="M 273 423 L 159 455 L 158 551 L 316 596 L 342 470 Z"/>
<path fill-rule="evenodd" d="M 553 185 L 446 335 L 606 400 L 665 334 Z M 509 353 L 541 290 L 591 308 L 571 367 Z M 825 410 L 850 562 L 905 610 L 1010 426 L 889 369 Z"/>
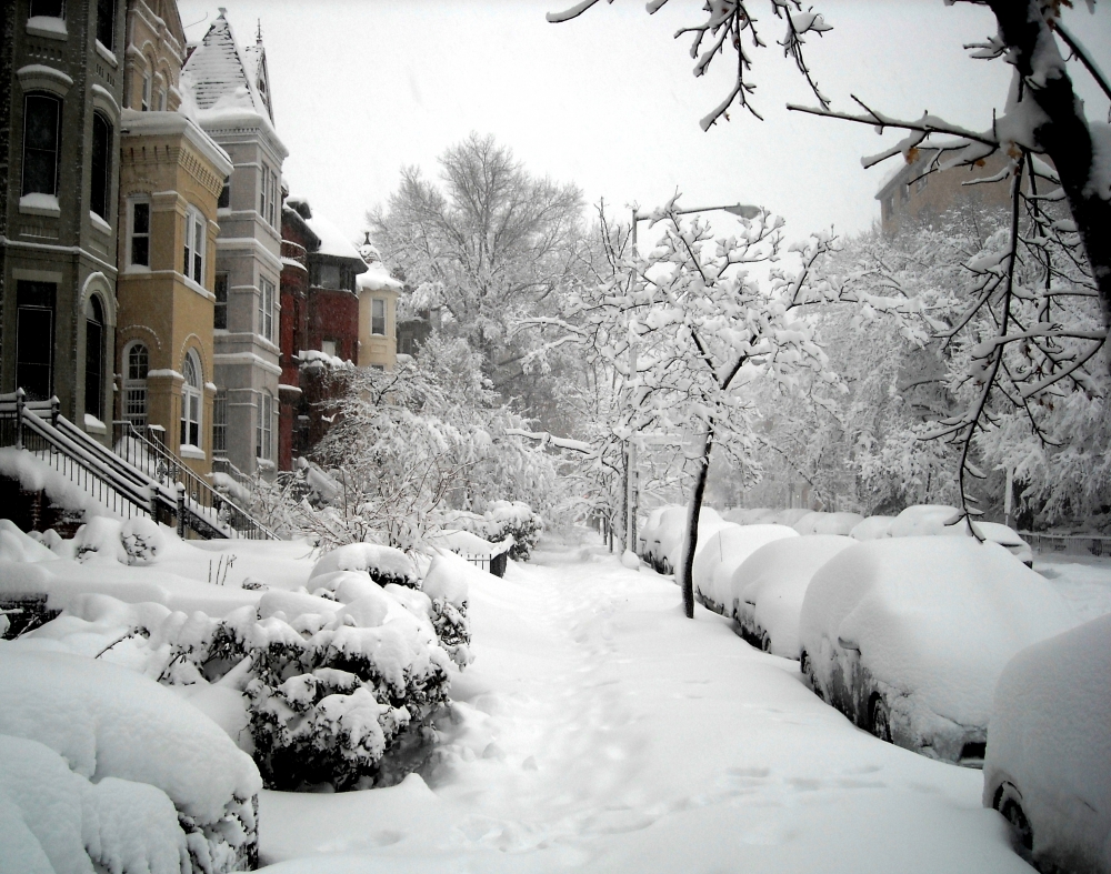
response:
<path fill-rule="evenodd" d="M 174 0 L 16 0 L 0 29 L 0 392 L 198 474 L 289 469 L 334 390 L 307 363 L 392 369 L 401 283 L 284 205 L 261 33 L 221 9 L 188 46 Z"/>

